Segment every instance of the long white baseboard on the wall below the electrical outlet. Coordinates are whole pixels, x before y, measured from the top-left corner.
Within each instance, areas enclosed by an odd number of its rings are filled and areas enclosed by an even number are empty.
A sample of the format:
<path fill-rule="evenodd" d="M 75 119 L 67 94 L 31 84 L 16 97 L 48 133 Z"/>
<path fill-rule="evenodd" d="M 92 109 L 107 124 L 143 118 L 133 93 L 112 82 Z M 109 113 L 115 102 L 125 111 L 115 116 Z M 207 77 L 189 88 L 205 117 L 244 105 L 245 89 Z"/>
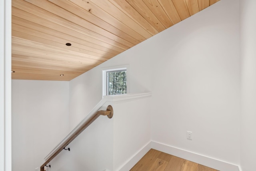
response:
<path fill-rule="evenodd" d="M 151 141 L 151 148 L 180 157 L 182 159 L 199 163 L 207 167 L 211 167 L 219 171 L 242 171 L 240 170 L 240 167 L 238 165 L 234 165 L 232 163 L 228 163 L 225 161 L 220 161 L 218 159 L 213 159 L 211 157 L 207 157 L 204 155 L 192 153 L 190 151 L 186 151 L 183 149 L 178 149 L 170 145 L 165 145 L 162 143 Z"/>

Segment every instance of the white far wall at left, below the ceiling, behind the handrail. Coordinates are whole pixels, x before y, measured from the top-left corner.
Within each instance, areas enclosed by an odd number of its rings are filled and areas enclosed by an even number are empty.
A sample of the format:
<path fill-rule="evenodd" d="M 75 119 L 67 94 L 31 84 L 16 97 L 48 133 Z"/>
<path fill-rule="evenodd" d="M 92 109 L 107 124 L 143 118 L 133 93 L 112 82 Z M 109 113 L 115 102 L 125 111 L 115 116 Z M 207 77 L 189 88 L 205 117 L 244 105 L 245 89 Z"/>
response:
<path fill-rule="evenodd" d="M 69 84 L 12 80 L 12 170 L 33 171 L 68 131 Z"/>

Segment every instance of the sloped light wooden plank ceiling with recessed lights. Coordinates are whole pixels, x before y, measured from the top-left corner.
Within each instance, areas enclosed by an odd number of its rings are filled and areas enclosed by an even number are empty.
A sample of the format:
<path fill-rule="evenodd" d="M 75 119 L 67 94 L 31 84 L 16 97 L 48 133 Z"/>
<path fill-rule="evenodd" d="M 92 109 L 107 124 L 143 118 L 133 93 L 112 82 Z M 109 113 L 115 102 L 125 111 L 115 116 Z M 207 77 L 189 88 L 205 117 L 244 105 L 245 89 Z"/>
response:
<path fill-rule="evenodd" d="M 72 80 L 217 1 L 12 0 L 12 79 Z"/>

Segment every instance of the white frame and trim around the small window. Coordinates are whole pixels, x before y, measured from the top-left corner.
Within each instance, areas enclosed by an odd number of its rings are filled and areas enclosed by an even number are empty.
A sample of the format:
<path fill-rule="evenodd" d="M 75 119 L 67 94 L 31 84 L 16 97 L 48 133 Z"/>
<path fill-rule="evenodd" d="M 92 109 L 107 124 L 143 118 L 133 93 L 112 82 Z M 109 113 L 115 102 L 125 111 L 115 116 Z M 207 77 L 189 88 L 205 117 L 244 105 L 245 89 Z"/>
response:
<path fill-rule="evenodd" d="M 129 93 L 129 66 L 125 65 L 125 66 L 113 66 L 113 67 L 108 67 L 108 68 L 102 68 L 102 98 L 106 95 L 108 95 L 108 78 L 107 78 L 107 74 L 108 72 L 112 72 L 112 71 L 123 71 L 126 70 L 126 94 Z"/>

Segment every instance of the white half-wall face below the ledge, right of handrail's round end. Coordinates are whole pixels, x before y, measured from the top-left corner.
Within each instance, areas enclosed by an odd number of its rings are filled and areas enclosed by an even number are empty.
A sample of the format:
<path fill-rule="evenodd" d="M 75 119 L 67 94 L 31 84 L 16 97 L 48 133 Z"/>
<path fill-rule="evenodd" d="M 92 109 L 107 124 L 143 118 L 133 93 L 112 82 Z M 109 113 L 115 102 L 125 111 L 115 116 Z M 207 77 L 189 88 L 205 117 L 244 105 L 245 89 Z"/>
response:
<path fill-rule="evenodd" d="M 120 171 L 151 141 L 150 100 L 150 97 L 144 97 L 114 103 L 113 171 Z M 122 170 L 130 170 L 132 166 Z"/>

